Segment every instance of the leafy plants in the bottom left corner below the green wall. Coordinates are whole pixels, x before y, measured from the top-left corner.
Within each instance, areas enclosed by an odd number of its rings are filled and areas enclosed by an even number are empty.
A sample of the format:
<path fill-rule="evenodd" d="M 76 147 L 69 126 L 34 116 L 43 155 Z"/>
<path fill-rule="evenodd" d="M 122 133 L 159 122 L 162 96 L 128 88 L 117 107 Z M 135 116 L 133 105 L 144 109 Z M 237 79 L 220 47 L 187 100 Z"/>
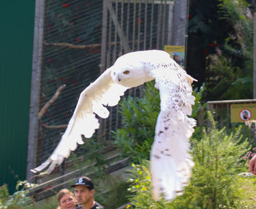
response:
<path fill-rule="evenodd" d="M 27 196 L 31 187 L 35 186 L 28 181 L 18 181 L 16 192 L 12 195 L 9 194 L 7 185 L 0 187 L 0 208 L 3 209 L 29 209 L 34 208 L 34 199 Z M 21 189 L 20 189 L 21 187 Z"/>

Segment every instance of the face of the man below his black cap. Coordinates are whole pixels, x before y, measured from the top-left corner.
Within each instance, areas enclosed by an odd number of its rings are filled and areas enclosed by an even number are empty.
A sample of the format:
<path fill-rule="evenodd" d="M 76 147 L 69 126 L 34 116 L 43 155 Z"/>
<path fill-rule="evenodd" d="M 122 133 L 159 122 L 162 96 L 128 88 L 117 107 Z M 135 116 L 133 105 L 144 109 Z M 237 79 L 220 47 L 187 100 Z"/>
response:
<path fill-rule="evenodd" d="M 86 186 L 75 186 L 75 197 L 79 205 L 86 204 L 94 198 L 94 189 L 90 191 Z"/>

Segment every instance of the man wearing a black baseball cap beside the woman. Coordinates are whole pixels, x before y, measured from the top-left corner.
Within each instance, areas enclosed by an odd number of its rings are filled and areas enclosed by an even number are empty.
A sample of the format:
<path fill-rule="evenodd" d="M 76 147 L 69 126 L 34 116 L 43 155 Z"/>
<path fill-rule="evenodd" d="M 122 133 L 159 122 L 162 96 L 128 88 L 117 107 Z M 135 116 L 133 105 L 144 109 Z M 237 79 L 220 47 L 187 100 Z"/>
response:
<path fill-rule="evenodd" d="M 75 209 L 105 209 L 94 201 L 94 184 L 90 178 L 79 177 L 71 186 L 75 187 L 75 198 L 79 204 Z"/>

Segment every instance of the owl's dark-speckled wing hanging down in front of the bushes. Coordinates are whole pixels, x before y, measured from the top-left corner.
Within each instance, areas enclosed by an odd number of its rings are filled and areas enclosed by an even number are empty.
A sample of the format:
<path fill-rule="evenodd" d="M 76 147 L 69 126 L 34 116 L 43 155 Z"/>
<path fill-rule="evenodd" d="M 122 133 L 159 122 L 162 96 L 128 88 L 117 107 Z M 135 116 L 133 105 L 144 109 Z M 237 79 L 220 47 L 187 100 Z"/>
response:
<path fill-rule="evenodd" d="M 170 62 L 159 64 L 152 71 L 159 88 L 161 111 L 157 118 L 151 150 L 151 175 L 154 199 L 172 200 L 182 194 L 194 165 L 189 154 L 189 137 L 196 121 L 192 114 L 191 83 L 194 80 L 181 66 Z"/>

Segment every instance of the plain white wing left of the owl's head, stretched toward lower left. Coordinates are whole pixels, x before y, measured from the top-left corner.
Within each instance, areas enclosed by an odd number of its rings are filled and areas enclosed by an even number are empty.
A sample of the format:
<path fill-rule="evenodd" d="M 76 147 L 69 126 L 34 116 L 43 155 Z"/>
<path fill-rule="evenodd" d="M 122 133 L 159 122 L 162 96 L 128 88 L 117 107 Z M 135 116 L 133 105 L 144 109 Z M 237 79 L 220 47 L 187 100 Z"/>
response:
<path fill-rule="evenodd" d="M 82 134 L 90 138 L 95 129 L 99 128 L 99 122 L 94 113 L 101 118 L 108 118 L 109 112 L 105 106 L 118 104 L 120 96 L 124 95 L 126 90 L 127 87 L 113 81 L 111 68 L 105 70 L 80 94 L 78 104 L 57 148 L 44 163 L 31 171 L 40 172 L 50 164 L 47 170 L 50 173 L 57 164 L 61 164 L 64 158 L 69 156 L 70 151 L 74 151 L 78 144 L 83 144 Z"/>

